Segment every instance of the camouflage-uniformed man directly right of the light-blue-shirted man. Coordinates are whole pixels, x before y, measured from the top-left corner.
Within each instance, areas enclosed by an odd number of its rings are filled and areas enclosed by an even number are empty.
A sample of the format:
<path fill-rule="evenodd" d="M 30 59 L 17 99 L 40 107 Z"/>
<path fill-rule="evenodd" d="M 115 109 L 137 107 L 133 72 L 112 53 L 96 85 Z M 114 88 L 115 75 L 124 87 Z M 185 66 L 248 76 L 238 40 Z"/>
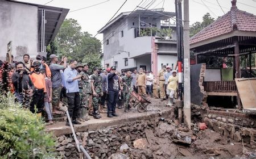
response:
<path fill-rule="evenodd" d="M 83 68 L 85 66 L 88 66 L 89 68 L 88 64 L 82 65 Z M 79 118 L 87 121 L 89 120 L 86 114 L 87 114 L 87 108 L 88 108 L 89 97 L 90 97 L 90 81 L 89 81 L 90 79 L 89 79 L 88 72 L 84 69 L 79 74 L 82 76 L 81 81 L 79 81 L 79 94 L 81 99 Z"/>

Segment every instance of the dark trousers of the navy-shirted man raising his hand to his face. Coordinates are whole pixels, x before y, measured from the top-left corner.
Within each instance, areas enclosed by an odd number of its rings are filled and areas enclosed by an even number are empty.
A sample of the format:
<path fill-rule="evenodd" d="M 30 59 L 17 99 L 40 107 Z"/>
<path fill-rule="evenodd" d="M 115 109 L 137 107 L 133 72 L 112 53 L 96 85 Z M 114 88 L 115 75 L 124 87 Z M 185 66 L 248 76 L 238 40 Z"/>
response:
<path fill-rule="evenodd" d="M 117 105 L 118 91 L 109 91 L 108 93 L 108 114 L 115 113 Z"/>

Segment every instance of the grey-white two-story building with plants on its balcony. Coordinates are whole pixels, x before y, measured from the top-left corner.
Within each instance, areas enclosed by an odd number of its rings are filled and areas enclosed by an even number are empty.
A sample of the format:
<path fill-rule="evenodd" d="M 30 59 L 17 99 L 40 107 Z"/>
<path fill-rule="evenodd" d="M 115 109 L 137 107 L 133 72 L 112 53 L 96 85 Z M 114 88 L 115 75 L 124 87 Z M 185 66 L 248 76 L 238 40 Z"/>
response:
<path fill-rule="evenodd" d="M 157 73 L 162 65 L 175 67 L 176 25 L 170 23 L 175 12 L 161 10 L 122 12 L 98 31 L 104 38 L 105 68 Z"/>

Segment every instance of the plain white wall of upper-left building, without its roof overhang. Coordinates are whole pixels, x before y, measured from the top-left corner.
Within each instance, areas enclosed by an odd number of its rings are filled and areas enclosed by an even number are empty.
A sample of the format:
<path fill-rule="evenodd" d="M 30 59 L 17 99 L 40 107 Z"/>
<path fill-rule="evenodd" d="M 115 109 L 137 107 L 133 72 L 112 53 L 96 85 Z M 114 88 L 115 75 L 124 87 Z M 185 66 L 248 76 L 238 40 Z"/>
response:
<path fill-rule="evenodd" d="M 14 60 L 25 53 L 37 55 L 38 8 L 0 1 L 0 58 L 5 60 L 7 44 L 13 41 Z"/>

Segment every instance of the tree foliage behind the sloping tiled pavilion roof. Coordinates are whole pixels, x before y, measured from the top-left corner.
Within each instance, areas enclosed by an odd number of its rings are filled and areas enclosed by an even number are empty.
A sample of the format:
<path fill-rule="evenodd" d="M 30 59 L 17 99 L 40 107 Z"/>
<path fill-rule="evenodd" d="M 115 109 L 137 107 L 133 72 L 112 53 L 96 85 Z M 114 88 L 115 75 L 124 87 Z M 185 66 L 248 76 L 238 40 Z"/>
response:
<path fill-rule="evenodd" d="M 203 16 L 203 22 L 195 22 L 192 24 L 192 27 L 190 28 L 189 31 L 189 36 L 192 37 L 196 35 L 198 32 L 203 30 L 203 28 L 209 26 L 209 24 L 212 24 L 214 21 L 214 18 L 212 18 L 209 12 L 207 12 L 207 14 Z"/>

